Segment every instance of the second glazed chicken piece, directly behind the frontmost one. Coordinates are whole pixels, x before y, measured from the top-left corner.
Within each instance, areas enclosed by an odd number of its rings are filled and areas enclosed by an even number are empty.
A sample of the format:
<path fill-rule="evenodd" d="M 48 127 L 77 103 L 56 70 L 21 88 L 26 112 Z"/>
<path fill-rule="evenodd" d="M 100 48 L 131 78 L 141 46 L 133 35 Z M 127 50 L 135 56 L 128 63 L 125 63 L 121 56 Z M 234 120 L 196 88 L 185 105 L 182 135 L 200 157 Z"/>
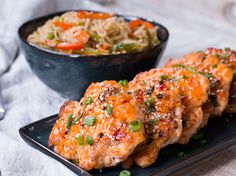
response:
<path fill-rule="evenodd" d="M 165 70 L 152 69 L 136 75 L 129 83 L 128 92 L 138 100 L 144 112 L 148 141 L 133 158 L 139 166 L 147 167 L 155 162 L 161 148 L 179 140 L 183 112 L 180 91 L 165 75 Z"/>

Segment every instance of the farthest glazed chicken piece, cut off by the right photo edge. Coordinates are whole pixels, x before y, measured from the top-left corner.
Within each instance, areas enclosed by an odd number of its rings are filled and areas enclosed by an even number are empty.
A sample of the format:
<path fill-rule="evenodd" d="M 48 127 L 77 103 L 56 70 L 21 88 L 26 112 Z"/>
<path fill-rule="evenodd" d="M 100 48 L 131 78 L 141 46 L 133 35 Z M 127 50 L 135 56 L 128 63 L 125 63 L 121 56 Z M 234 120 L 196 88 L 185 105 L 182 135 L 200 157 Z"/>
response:
<path fill-rule="evenodd" d="M 221 63 L 227 65 L 233 70 L 233 81 L 230 86 L 229 104 L 226 107 L 226 113 L 236 113 L 236 51 L 230 48 L 216 49 L 208 48 L 205 53 L 207 55 L 214 55 Z"/>

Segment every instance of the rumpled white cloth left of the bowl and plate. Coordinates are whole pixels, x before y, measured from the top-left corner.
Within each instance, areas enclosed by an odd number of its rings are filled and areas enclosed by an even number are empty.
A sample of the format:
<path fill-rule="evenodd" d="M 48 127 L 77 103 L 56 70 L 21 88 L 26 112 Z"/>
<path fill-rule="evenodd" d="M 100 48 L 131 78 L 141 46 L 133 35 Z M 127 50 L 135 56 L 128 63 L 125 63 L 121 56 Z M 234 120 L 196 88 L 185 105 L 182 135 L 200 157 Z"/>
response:
<path fill-rule="evenodd" d="M 76 0 L 5 0 L 0 6 L 0 85 L 6 115 L 0 121 L 0 176 L 74 175 L 54 159 L 29 147 L 18 130 L 56 114 L 64 99 L 30 70 L 19 50 L 18 27 L 26 20 L 65 9 L 104 10 Z"/>

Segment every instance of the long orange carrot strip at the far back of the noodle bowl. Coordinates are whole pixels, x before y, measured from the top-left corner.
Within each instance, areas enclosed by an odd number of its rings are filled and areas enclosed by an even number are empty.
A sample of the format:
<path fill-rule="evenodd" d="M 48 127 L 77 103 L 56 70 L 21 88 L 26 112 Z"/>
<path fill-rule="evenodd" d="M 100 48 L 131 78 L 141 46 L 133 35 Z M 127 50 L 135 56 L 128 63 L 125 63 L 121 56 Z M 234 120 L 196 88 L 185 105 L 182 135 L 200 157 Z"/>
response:
<path fill-rule="evenodd" d="M 90 18 L 90 19 L 107 19 L 113 17 L 115 14 L 111 13 L 98 13 L 98 12 L 87 12 L 87 11 L 78 11 L 78 18 Z"/>

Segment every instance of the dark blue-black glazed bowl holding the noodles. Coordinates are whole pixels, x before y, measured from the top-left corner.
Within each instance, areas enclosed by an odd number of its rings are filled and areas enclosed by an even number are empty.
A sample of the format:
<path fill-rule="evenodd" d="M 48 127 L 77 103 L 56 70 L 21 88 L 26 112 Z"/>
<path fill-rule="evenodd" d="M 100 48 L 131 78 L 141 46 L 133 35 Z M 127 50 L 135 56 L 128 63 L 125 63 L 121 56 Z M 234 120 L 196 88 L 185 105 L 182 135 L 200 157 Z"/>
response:
<path fill-rule="evenodd" d="M 154 68 L 166 48 L 169 33 L 167 29 L 151 20 L 143 19 L 158 25 L 157 32 L 160 44 L 136 53 L 81 56 L 68 55 L 50 51 L 27 42 L 27 37 L 48 19 L 65 13 L 58 12 L 24 23 L 18 30 L 25 57 L 36 75 L 50 88 L 66 98 L 79 99 L 91 82 L 103 80 L 132 79 L 137 73 Z M 117 15 L 130 21 L 137 17 Z"/>

